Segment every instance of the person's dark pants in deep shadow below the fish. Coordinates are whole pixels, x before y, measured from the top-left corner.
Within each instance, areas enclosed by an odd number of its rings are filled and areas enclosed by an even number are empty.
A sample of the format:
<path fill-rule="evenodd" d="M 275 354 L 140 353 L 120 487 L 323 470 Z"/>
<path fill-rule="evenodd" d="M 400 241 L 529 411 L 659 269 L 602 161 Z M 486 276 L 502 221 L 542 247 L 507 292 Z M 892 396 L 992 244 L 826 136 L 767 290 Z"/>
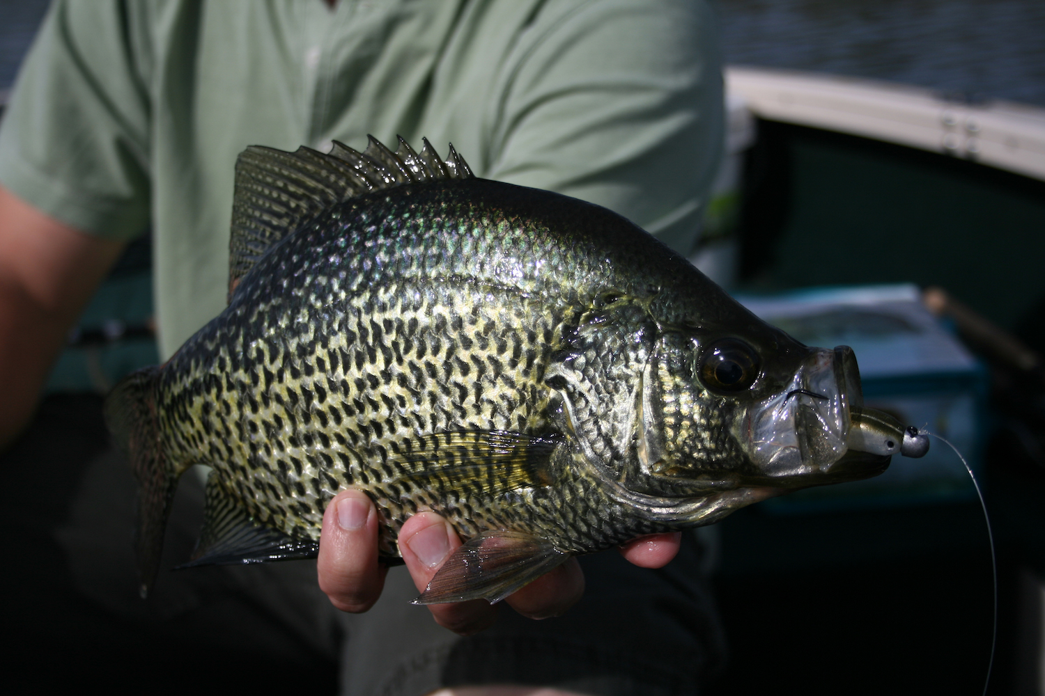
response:
<path fill-rule="evenodd" d="M 134 482 L 94 397 L 52 397 L 2 457 L 0 491 L 13 661 L 26 693 L 102 685 L 110 693 L 307 689 L 423 694 L 464 683 L 533 683 L 591 694 L 692 694 L 721 662 L 721 630 L 686 535 L 667 568 L 613 552 L 581 559 L 587 590 L 535 622 L 500 605 L 496 625 L 460 638 L 409 602 L 402 568 L 377 605 L 334 610 L 312 561 L 162 571 L 137 596 Z M 163 568 L 188 557 L 202 521 L 193 472 L 179 486 Z M 336 666 L 340 665 L 340 677 Z"/>

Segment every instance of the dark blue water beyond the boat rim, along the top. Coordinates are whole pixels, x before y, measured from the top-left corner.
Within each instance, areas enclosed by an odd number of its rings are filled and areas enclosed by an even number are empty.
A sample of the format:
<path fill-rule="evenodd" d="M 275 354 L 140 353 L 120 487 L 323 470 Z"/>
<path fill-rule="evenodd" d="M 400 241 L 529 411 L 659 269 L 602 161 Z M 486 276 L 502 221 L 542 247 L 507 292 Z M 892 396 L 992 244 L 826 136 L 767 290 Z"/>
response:
<path fill-rule="evenodd" d="M 730 63 L 1045 105 L 1045 0 L 712 1 Z M 0 91 L 46 7 L 0 0 Z"/>

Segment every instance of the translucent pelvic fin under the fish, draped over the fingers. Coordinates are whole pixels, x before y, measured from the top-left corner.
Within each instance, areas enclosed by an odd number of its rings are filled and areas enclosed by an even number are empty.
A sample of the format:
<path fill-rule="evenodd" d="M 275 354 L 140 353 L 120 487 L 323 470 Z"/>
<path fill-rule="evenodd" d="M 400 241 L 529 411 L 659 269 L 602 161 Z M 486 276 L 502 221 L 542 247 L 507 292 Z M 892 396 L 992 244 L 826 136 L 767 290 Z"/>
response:
<path fill-rule="evenodd" d="M 458 547 L 414 604 L 480 598 L 495 604 L 570 555 L 522 532 L 483 532 Z"/>

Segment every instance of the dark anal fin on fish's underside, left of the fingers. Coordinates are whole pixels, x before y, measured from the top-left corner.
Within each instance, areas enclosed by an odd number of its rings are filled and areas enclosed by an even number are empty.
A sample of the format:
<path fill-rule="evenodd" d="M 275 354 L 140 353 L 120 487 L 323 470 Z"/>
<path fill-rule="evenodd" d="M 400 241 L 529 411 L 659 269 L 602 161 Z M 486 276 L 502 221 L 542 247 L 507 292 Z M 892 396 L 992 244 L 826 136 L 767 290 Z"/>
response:
<path fill-rule="evenodd" d="M 178 569 L 315 558 L 319 551 L 318 542 L 292 538 L 256 522 L 211 472 L 200 541 L 189 562 Z"/>

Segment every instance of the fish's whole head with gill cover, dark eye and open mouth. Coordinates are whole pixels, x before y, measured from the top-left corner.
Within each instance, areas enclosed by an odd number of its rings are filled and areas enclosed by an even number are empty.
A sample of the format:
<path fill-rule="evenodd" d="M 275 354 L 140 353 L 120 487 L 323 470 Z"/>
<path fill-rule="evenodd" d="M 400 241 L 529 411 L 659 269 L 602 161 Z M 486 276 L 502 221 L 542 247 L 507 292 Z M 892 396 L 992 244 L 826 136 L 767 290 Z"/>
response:
<path fill-rule="evenodd" d="M 733 501 L 724 513 L 876 476 L 901 453 L 899 422 L 863 407 L 850 347 L 807 346 L 739 305 L 727 320 L 687 321 L 649 299 L 608 299 L 581 317 L 548 375 L 565 429 L 614 485 L 719 496 Z"/>

